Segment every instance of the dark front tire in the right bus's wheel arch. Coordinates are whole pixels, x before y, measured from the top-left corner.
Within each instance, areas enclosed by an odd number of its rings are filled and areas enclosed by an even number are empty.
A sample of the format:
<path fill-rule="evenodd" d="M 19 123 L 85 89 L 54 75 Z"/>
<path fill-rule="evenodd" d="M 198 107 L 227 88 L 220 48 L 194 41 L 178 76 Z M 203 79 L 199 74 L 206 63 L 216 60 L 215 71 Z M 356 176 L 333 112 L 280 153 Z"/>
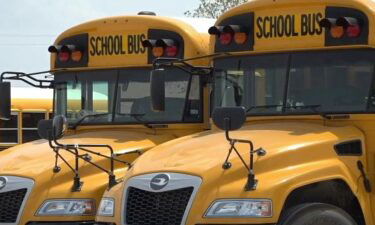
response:
<path fill-rule="evenodd" d="M 307 203 L 283 213 L 277 225 L 357 225 L 344 210 L 328 204 Z"/>

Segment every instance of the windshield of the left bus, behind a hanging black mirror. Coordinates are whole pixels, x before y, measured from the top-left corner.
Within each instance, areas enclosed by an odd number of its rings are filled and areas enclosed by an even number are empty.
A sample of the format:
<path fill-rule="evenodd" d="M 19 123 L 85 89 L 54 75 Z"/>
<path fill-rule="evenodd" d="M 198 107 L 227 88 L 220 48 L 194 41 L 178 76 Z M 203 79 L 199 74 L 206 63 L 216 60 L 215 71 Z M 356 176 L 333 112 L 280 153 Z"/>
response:
<path fill-rule="evenodd" d="M 56 79 L 56 114 L 70 124 L 194 123 L 202 121 L 198 76 L 171 69 L 166 77 L 166 110 L 151 110 L 150 69 L 61 73 Z"/>

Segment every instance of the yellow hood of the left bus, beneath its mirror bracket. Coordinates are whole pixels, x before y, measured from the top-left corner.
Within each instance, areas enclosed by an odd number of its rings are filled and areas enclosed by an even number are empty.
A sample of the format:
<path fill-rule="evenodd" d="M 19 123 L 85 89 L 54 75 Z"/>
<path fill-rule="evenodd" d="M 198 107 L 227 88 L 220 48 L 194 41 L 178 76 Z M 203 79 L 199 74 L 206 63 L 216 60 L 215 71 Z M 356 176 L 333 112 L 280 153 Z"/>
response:
<path fill-rule="evenodd" d="M 106 144 L 112 146 L 115 152 L 126 150 L 146 151 L 157 144 L 176 138 L 174 135 L 158 134 L 151 131 L 83 131 L 79 134 L 64 137 L 59 142 L 65 144 Z M 107 148 L 87 148 L 110 155 Z M 84 154 L 85 152 L 80 152 Z M 60 154 L 72 165 L 75 166 L 75 156 L 65 150 L 60 150 Z M 119 158 L 132 162 L 138 154 L 123 155 Z M 109 169 L 108 159 L 92 156 L 92 162 L 98 163 L 102 167 Z M 0 152 L 0 176 L 21 176 L 31 178 L 38 183 L 49 182 L 61 184 L 72 183 L 74 176 L 69 167 L 59 159 L 58 165 L 61 167 L 59 173 L 54 173 L 55 153 L 50 148 L 48 141 L 38 140 L 23 145 L 18 145 Z M 105 173 L 94 168 L 87 162 L 80 160 L 80 176 L 82 180 L 88 176 L 106 176 Z M 124 170 L 126 165 L 116 163 L 118 171 Z M 99 175 L 98 175 L 99 174 Z M 50 184 L 51 182 L 49 182 Z M 101 184 L 102 185 L 102 184 Z"/>

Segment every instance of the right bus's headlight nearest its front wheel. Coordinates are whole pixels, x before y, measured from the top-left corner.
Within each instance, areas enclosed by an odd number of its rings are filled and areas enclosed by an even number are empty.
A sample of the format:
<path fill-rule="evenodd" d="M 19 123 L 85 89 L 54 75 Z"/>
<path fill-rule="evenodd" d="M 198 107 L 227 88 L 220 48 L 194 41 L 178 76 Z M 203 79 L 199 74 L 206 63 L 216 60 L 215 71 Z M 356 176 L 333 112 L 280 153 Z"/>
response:
<path fill-rule="evenodd" d="M 272 201 L 265 199 L 218 200 L 205 217 L 272 217 Z"/>

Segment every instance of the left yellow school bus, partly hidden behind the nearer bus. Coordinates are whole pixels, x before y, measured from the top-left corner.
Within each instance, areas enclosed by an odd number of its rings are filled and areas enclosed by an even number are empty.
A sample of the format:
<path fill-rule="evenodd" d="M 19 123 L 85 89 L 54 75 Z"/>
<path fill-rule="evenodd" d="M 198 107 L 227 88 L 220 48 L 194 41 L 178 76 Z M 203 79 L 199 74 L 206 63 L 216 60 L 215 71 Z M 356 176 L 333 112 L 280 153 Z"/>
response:
<path fill-rule="evenodd" d="M 0 224 L 93 224 L 104 190 L 139 154 L 209 128 L 207 79 L 191 76 L 183 66 L 166 69 L 165 111 L 150 106 L 156 58 L 208 54 L 209 35 L 190 24 L 141 13 L 84 23 L 57 38 L 48 49 L 53 82 L 34 80 L 35 86 L 54 87 L 55 118 L 39 123 L 38 130 L 46 126 L 52 136 L 0 153 Z M 205 67 L 209 61 L 191 63 Z M 68 125 L 58 141 L 48 128 L 56 127 L 56 118 Z M 108 171 L 113 158 L 114 171 Z"/>

